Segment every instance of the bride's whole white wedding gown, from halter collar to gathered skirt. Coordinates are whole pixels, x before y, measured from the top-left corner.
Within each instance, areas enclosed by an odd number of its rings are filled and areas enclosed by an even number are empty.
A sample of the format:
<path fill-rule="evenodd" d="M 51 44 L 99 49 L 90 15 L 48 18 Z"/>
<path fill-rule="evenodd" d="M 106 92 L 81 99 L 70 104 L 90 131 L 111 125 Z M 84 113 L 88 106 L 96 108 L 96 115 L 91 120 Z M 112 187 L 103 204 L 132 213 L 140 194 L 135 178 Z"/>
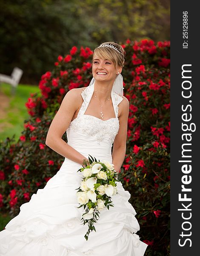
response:
<path fill-rule="evenodd" d="M 119 130 L 118 104 L 123 100 L 111 92 L 116 117 L 103 121 L 84 114 L 94 84 L 84 88 L 83 104 L 67 129 L 68 144 L 88 158 L 112 163 L 111 146 Z M 60 170 L 43 189 L 20 207 L 20 213 L 0 232 L 0 256 L 143 256 L 147 244 L 135 234 L 140 230 L 136 212 L 128 202 L 130 193 L 117 182 L 114 207 L 100 212 L 96 229 L 84 235 L 88 225 L 81 224 L 83 207 L 77 208 L 76 192 L 82 173 L 81 164 L 65 158 Z"/>

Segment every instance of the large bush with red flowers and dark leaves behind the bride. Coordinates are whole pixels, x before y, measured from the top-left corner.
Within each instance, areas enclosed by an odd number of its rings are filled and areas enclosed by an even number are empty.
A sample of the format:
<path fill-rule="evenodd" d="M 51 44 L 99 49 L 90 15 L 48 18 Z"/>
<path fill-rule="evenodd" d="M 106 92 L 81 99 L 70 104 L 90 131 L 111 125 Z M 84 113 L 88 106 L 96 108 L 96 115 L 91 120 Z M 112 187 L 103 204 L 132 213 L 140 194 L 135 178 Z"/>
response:
<path fill-rule="evenodd" d="M 146 255 L 169 255 L 170 42 L 128 39 L 122 46 L 124 96 L 130 111 L 119 179 L 137 212 L 137 234 L 149 244 Z M 1 145 L 0 207 L 13 217 L 60 169 L 64 159 L 45 144 L 46 134 L 67 91 L 89 85 L 92 53 L 88 47 L 74 46 L 68 55 L 58 56 L 54 70 L 41 77 L 42 96 L 31 94 L 26 102 L 30 118 L 18 142 L 7 139 Z"/>

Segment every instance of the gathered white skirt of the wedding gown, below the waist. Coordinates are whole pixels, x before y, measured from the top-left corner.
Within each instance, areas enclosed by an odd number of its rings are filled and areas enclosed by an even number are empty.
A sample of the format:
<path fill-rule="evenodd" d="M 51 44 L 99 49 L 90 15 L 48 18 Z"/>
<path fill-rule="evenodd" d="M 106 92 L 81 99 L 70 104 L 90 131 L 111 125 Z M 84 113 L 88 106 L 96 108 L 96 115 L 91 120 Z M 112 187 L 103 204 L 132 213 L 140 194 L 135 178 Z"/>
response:
<path fill-rule="evenodd" d="M 65 159 L 60 170 L 43 189 L 38 189 L 20 213 L 0 232 L 0 256 L 143 256 L 147 244 L 135 234 L 140 230 L 130 193 L 117 182 L 114 207 L 100 212 L 96 229 L 84 235 L 83 207 L 76 192 L 82 166 Z"/>

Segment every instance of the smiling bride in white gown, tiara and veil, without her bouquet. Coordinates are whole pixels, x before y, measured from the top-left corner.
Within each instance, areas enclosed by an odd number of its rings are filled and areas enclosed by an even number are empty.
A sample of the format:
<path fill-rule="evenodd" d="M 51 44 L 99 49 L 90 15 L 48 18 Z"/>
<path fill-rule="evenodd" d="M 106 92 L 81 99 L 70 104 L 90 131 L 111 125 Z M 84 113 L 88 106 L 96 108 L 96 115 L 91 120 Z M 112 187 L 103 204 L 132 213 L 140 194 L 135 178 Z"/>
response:
<path fill-rule="evenodd" d="M 136 234 L 136 212 L 121 182 L 111 196 L 114 207 L 101 211 L 96 232 L 87 241 L 75 190 L 83 177 L 77 170 L 89 162 L 89 155 L 113 163 L 116 172 L 124 161 L 129 116 L 120 74 L 124 57 L 119 44 L 100 44 L 94 49 L 89 86 L 66 93 L 46 137 L 46 145 L 65 157 L 63 164 L 0 232 L 0 256 L 144 255 L 147 244 Z"/>

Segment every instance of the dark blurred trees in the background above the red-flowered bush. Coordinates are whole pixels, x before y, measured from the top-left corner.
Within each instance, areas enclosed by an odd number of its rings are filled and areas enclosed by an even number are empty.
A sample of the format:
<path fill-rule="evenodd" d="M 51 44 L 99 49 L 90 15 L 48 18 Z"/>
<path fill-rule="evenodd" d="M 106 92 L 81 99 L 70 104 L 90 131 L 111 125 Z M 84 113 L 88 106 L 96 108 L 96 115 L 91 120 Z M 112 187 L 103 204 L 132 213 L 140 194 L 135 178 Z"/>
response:
<path fill-rule="evenodd" d="M 170 40 L 169 0 L 0 0 L 0 73 L 38 84 L 58 55 L 127 38 Z"/>

